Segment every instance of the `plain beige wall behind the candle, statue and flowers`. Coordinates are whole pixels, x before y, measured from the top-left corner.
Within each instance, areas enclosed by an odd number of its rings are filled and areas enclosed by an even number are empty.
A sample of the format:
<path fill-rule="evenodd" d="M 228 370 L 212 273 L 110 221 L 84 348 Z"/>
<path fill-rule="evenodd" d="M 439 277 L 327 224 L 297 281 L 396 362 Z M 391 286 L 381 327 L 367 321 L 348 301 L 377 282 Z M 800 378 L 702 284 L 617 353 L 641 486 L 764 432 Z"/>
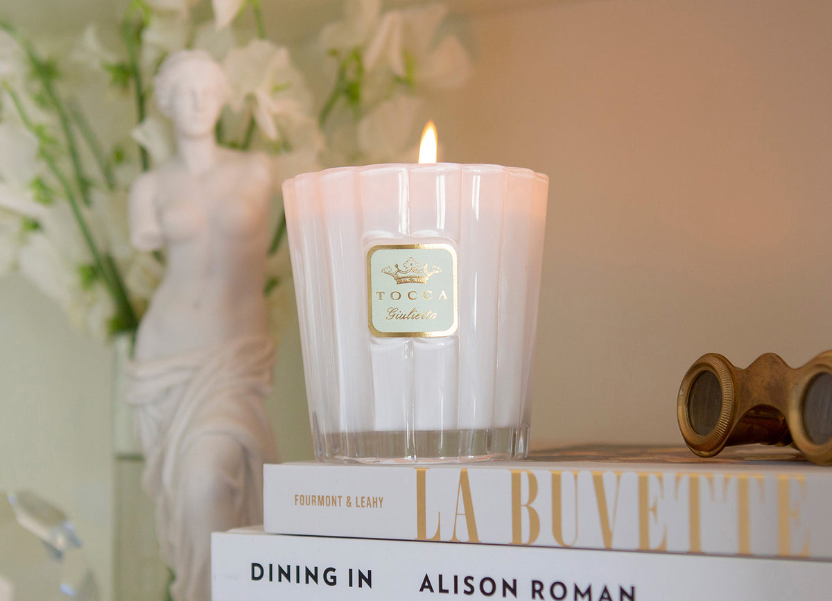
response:
<path fill-rule="evenodd" d="M 506 0 L 505 5 L 511 2 Z M 491 2 L 493 4 L 493 2 Z M 471 22 L 445 158 L 551 177 L 532 440 L 681 441 L 693 360 L 832 347 L 832 4 L 562 0 Z M 296 330 L 270 404 L 310 455 Z M 108 590 L 111 355 L 0 281 L 0 489 L 78 521 Z"/>

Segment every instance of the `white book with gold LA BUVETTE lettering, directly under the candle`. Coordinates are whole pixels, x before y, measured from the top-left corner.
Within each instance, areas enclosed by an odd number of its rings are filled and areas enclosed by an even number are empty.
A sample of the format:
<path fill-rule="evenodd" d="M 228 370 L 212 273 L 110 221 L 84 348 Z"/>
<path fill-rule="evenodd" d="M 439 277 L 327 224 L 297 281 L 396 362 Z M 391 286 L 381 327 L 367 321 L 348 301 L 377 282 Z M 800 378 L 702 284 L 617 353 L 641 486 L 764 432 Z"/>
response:
<path fill-rule="evenodd" d="M 269 464 L 279 534 L 832 559 L 832 469 L 771 447 L 717 459 L 578 447 L 517 462 Z"/>

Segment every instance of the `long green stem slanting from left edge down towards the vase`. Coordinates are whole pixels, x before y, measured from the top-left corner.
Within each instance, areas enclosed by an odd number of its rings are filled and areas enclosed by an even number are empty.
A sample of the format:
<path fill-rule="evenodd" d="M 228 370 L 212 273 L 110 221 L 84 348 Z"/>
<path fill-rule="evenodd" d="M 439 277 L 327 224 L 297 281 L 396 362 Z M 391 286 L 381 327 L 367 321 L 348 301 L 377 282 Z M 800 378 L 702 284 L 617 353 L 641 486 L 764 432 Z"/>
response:
<path fill-rule="evenodd" d="M 32 120 L 23 108 L 23 104 L 20 97 L 17 95 L 17 92 L 14 91 L 14 88 L 12 88 L 8 82 L 3 82 L 2 86 L 8 93 L 9 97 L 12 98 L 12 103 L 17 109 L 17 114 L 20 115 L 24 127 L 37 136 L 35 124 L 32 123 Z M 67 180 L 67 176 L 65 176 L 63 172 L 58 169 L 55 157 L 47 151 L 42 151 L 41 156 L 43 161 L 46 162 L 49 171 L 53 176 L 55 176 L 55 179 L 62 187 L 64 196 L 67 196 L 67 201 L 69 202 L 69 206 L 72 210 L 72 216 L 75 217 L 78 228 L 81 230 L 81 235 L 84 242 L 87 244 L 87 249 L 92 255 L 92 261 L 95 262 L 98 272 L 102 274 L 104 284 L 110 292 L 113 301 L 116 303 L 116 310 L 118 310 L 119 315 L 121 315 L 121 323 L 124 324 L 127 329 L 135 328 L 138 324 L 136 313 L 133 310 L 130 301 L 127 300 L 126 291 L 121 283 L 121 276 L 119 276 L 115 262 L 112 261 L 111 256 L 106 255 L 105 258 L 105 256 L 102 256 L 101 251 L 98 250 L 96 241 L 92 237 L 92 231 L 90 231 L 89 226 L 87 226 L 87 220 L 84 219 L 81 204 L 75 196 L 75 191 L 72 190 L 72 185 Z"/>

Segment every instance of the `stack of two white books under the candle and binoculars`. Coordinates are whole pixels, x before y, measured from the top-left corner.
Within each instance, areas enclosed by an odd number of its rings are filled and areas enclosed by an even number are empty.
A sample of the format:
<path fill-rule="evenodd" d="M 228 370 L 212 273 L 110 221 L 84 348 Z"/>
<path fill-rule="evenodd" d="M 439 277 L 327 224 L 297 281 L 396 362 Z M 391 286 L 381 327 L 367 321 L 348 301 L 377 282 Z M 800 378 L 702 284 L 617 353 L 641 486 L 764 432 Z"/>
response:
<path fill-rule="evenodd" d="M 829 599 L 832 469 L 790 450 L 582 447 L 515 462 L 266 465 L 212 536 L 214 601 Z"/>

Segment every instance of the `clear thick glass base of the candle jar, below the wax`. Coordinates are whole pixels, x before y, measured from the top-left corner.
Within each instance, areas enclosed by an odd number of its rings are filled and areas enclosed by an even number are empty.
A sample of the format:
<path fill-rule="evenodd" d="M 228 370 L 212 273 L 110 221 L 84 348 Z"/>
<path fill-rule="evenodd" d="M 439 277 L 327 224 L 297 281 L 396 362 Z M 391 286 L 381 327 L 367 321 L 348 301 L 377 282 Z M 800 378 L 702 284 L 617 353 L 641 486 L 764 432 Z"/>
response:
<path fill-rule="evenodd" d="M 315 456 L 331 463 L 410 464 L 523 459 L 528 425 L 484 430 L 390 430 L 319 434 Z"/>

